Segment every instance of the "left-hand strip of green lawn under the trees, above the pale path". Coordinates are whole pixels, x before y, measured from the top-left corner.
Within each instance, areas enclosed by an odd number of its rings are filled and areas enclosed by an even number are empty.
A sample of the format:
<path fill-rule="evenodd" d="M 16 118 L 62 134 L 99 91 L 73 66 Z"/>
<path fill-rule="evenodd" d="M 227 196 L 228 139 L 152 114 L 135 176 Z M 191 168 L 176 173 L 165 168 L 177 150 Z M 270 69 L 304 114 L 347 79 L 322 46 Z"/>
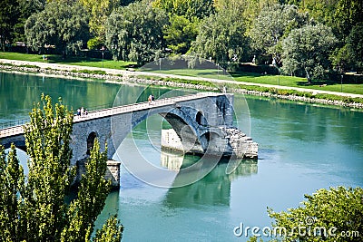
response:
<path fill-rule="evenodd" d="M 0 52 L 0 59 L 27 61 L 27 62 L 48 62 L 48 63 L 64 63 L 71 65 L 91 66 L 98 68 L 109 69 L 126 69 L 127 67 L 134 65 L 133 62 L 122 62 L 113 60 L 102 60 L 96 58 L 86 58 L 78 56 L 68 56 L 65 60 L 62 59 L 62 55 L 59 54 L 46 54 L 48 60 L 43 60 L 43 54 L 32 53 L 4 53 Z"/>

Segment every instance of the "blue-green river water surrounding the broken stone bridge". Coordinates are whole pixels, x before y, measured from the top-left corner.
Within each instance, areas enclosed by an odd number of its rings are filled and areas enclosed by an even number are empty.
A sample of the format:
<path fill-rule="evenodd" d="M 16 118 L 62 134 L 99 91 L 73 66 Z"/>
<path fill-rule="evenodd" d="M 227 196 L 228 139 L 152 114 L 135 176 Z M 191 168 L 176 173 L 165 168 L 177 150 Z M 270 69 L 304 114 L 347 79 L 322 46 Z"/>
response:
<path fill-rule="evenodd" d="M 120 87 L 101 81 L 0 73 L 0 123 L 27 118 L 42 92 L 54 100 L 63 97 L 74 110 L 81 106 L 91 110 L 112 105 Z M 143 89 L 123 85 L 123 103 L 135 100 L 135 94 Z M 153 87 L 137 100 L 145 101 L 150 92 L 158 98 L 171 90 Z M 236 97 L 238 110 L 243 103 L 239 95 Z M 246 99 L 250 136 L 259 143 L 258 161 L 243 160 L 229 175 L 227 162 L 221 162 L 203 179 L 178 189 L 153 187 L 123 169 L 121 188 L 108 196 L 98 226 L 117 213 L 124 226 L 123 241 L 246 241 L 245 234 L 234 235 L 234 227 L 240 223 L 244 227 L 270 227 L 268 207 L 275 211 L 298 207 L 304 194 L 317 189 L 363 187 L 362 111 L 249 96 Z M 160 153 L 161 127 L 147 124 L 160 120 L 152 116 L 134 128 L 123 141 L 123 157 L 132 159 L 132 153 L 127 154 L 127 142 L 133 139 L 156 166 L 164 166 L 165 160 L 183 164 L 198 160 L 189 155 Z M 240 126 L 243 123 L 240 121 Z"/>

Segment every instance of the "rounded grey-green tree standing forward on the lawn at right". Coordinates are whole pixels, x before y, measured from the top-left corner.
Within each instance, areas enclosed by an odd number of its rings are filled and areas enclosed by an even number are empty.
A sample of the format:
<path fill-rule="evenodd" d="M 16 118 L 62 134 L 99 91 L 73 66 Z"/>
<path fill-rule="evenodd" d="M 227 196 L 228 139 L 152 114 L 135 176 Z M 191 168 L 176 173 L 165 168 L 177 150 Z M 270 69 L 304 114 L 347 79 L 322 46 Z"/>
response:
<path fill-rule="evenodd" d="M 306 76 L 312 79 L 325 78 L 331 63 L 329 54 L 338 40 L 331 28 L 323 25 L 305 25 L 294 29 L 282 42 L 282 72 Z"/>

